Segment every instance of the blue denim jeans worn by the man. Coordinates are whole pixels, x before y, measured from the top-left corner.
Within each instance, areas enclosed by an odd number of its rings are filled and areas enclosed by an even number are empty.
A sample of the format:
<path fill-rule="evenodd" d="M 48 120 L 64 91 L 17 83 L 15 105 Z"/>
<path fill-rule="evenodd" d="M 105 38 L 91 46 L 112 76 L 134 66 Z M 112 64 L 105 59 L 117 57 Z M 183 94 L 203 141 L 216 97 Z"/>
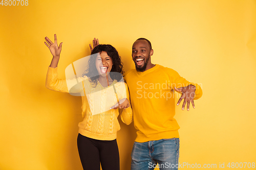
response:
<path fill-rule="evenodd" d="M 177 170 L 179 149 L 179 138 L 134 142 L 131 170 L 153 170 L 155 167 L 161 170 Z"/>

